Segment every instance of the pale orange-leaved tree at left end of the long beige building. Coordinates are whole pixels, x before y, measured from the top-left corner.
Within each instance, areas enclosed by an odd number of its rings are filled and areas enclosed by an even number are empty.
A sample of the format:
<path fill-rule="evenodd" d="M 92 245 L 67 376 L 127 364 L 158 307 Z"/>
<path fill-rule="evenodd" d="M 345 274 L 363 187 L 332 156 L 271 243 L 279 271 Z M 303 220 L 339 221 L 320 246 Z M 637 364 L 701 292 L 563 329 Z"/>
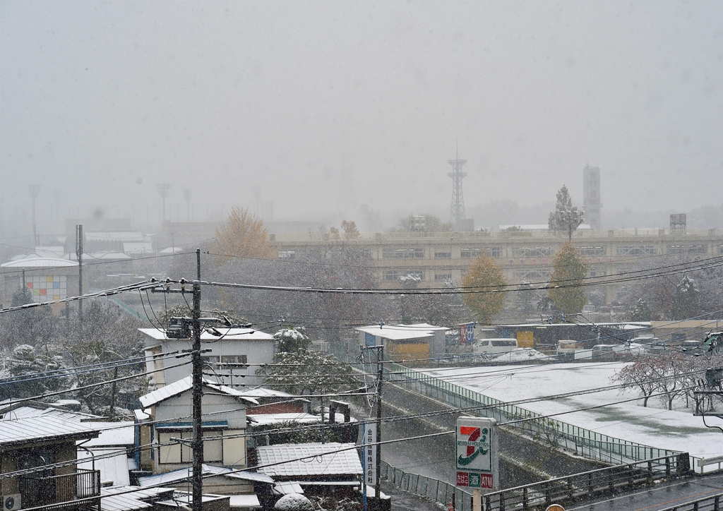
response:
<path fill-rule="evenodd" d="M 274 259 L 276 249 L 268 240 L 263 221 L 243 207 L 234 207 L 228 218 L 216 229 L 213 251 L 220 262 L 228 256 Z"/>

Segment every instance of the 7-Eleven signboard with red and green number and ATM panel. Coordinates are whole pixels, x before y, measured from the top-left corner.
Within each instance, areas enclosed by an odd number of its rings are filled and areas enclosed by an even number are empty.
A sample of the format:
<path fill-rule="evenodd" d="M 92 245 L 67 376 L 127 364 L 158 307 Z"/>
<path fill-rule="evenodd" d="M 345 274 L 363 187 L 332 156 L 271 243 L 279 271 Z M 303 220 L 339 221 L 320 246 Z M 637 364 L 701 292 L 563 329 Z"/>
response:
<path fill-rule="evenodd" d="M 457 486 L 496 489 L 499 481 L 499 439 L 494 418 L 457 419 Z"/>

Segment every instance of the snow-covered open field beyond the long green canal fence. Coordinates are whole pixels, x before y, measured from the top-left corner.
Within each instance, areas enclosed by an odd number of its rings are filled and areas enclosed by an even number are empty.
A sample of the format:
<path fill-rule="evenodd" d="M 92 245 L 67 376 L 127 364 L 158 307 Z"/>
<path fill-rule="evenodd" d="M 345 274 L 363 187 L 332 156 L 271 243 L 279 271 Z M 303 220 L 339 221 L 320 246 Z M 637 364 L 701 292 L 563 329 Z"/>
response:
<path fill-rule="evenodd" d="M 545 364 L 461 367 L 425 372 L 490 398 L 509 402 L 615 385 L 616 382 L 610 378 L 623 366 L 624 362 Z M 547 415 L 615 403 L 637 396 L 638 393 L 633 390 L 604 390 L 570 398 L 526 403 L 521 408 Z M 674 406 L 676 404 L 685 406 L 684 398 L 674 403 Z M 703 426 L 703 419 L 693 416 L 690 410 L 665 410 L 659 398 L 650 398 L 647 408 L 643 408 L 643 400 L 637 400 L 566 413 L 555 418 L 610 437 L 661 449 L 690 452 L 698 458 L 708 458 L 722 452 L 723 438 L 718 429 Z M 706 422 L 709 425 L 722 425 L 719 418 L 706 418 Z"/>

